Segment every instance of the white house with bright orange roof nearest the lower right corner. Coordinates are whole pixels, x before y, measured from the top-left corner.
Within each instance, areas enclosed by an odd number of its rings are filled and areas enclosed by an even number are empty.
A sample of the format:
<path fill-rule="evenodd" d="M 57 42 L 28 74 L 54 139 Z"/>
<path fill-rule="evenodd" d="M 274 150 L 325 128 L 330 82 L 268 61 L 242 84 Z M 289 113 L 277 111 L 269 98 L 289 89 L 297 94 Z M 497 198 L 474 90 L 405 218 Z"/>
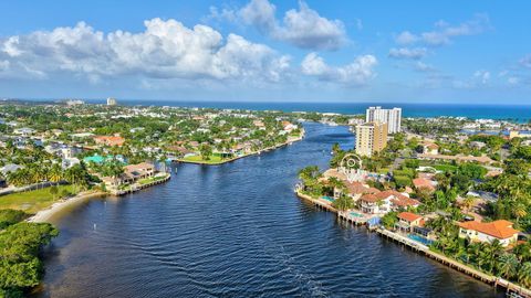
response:
<path fill-rule="evenodd" d="M 470 242 L 485 243 L 492 243 L 494 240 L 498 240 L 503 247 L 516 243 L 519 232 L 512 227 L 511 222 L 504 220 L 490 223 L 476 221 L 459 223 L 459 237 Z"/>

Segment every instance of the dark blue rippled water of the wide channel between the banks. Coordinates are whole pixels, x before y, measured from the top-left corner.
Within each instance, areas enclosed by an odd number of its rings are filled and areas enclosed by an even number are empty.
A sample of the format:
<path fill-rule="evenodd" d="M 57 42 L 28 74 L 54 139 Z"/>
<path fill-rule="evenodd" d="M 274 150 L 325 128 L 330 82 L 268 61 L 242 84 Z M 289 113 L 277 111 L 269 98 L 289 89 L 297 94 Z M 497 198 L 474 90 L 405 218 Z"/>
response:
<path fill-rule="evenodd" d="M 308 125 L 298 143 L 58 220 L 40 297 L 493 297 L 491 287 L 336 221 L 293 195 L 296 172 L 353 146 Z"/>

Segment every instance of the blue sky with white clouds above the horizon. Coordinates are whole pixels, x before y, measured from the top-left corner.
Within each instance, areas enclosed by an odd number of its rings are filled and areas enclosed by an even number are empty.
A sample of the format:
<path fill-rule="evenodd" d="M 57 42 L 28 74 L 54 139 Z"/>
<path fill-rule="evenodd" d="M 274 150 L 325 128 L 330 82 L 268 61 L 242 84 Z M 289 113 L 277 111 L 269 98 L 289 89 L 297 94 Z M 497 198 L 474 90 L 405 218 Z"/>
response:
<path fill-rule="evenodd" d="M 1 1 L 0 97 L 531 104 L 531 3 Z"/>

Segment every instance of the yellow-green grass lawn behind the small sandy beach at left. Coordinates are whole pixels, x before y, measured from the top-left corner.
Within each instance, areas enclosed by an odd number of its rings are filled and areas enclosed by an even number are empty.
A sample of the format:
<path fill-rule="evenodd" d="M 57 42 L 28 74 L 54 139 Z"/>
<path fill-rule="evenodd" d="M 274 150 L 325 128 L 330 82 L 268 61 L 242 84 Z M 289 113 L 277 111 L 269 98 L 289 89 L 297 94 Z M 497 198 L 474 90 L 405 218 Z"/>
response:
<path fill-rule="evenodd" d="M 63 190 L 74 193 L 73 185 L 59 185 L 56 199 L 50 193 L 50 188 L 17 192 L 0 196 L 0 209 L 17 209 L 23 210 L 27 213 L 37 213 L 40 210 L 51 206 L 61 198 Z"/>

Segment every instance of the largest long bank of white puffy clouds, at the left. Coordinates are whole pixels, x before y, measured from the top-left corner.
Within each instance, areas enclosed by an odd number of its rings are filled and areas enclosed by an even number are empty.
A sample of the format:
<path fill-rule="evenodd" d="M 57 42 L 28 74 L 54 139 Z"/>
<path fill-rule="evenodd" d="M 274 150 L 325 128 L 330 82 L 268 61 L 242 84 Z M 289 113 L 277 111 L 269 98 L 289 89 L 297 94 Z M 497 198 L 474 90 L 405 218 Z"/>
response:
<path fill-rule="evenodd" d="M 143 32 L 103 33 L 84 22 L 0 39 L 0 61 L 12 74 L 49 76 L 71 72 L 92 82 L 101 77 L 279 81 L 290 57 L 267 45 L 207 25 L 187 28 L 153 19 Z"/>

